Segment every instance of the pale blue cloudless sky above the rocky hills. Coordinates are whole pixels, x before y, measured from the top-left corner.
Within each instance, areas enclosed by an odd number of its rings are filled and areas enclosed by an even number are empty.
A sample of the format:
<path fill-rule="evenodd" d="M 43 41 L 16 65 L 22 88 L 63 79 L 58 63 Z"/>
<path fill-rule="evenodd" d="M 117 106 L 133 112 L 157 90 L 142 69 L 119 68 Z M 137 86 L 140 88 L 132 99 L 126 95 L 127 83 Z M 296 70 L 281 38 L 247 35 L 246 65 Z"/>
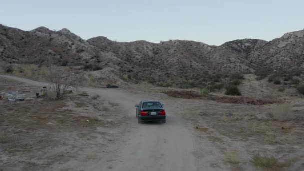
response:
<path fill-rule="evenodd" d="M 67 28 L 83 39 L 272 40 L 304 29 L 304 0 L 0 0 L 0 23 Z"/>

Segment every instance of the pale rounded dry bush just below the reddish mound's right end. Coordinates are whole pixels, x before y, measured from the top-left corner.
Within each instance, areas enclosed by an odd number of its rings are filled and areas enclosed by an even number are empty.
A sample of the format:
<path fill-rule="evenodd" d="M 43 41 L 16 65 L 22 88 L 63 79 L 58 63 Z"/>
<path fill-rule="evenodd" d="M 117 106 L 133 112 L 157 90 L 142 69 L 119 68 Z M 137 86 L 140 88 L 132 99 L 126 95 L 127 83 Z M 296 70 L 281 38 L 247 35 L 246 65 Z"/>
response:
<path fill-rule="evenodd" d="M 274 104 L 271 108 L 271 113 L 274 120 L 287 121 L 295 118 L 289 103 Z"/>

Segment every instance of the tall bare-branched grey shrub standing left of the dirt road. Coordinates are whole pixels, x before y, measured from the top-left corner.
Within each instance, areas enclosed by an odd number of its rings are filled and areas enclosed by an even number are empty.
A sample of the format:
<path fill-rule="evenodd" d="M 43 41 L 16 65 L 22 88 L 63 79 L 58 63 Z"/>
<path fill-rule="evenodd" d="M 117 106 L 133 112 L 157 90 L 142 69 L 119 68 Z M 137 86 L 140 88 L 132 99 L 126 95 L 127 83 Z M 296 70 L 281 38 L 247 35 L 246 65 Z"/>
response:
<path fill-rule="evenodd" d="M 55 99 L 61 99 L 68 94 L 70 89 L 77 89 L 81 75 L 74 74 L 69 68 L 49 66 L 47 79 L 50 90 L 55 92 Z"/>

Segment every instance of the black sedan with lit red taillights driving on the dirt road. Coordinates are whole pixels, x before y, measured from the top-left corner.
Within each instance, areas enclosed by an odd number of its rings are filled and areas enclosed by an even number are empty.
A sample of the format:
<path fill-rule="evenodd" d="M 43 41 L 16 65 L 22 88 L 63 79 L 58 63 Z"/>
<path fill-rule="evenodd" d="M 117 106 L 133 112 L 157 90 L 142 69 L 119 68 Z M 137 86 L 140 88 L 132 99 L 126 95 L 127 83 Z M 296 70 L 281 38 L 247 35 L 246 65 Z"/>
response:
<path fill-rule="evenodd" d="M 161 121 L 166 122 L 163 104 L 157 100 L 143 100 L 136 107 L 136 118 L 138 123 L 143 121 Z"/>

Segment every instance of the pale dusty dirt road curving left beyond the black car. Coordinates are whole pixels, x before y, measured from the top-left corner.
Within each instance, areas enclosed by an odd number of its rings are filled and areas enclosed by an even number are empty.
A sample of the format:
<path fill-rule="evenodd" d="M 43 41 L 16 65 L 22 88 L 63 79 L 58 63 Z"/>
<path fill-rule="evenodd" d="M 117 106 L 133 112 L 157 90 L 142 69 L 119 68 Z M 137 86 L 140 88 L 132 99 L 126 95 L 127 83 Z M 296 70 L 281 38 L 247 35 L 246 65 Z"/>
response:
<path fill-rule="evenodd" d="M 24 78 L 3 76 L 33 86 L 47 86 L 47 83 L 36 82 Z M 180 112 L 182 106 L 174 102 L 166 102 L 167 123 L 138 124 L 135 117 L 134 105 L 143 99 L 155 99 L 161 96 L 151 94 L 131 94 L 123 89 L 100 89 L 82 87 L 81 90 L 89 94 L 99 94 L 119 103 L 121 114 L 129 120 L 126 134 L 121 137 L 121 142 L 115 153 L 107 157 L 107 161 L 77 165 L 80 170 L 198 170 L 197 160 L 194 156 L 195 145 L 190 129 L 187 128 Z M 109 158 L 110 157 L 110 158 Z M 200 161 L 201 162 L 201 161 Z M 200 163 L 201 165 L 201 163 Z M 205 164 L 204 169 L 211 170 Z"/>

